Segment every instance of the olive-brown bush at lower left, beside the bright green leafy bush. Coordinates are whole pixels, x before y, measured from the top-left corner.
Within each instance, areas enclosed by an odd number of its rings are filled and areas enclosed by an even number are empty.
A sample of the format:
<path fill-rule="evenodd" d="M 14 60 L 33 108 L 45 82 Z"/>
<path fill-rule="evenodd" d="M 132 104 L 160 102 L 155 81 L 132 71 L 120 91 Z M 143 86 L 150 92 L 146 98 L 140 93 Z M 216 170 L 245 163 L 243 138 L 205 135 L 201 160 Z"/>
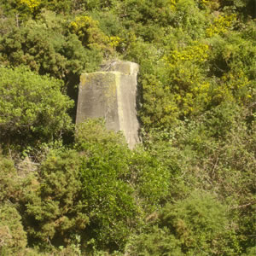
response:
<path fill-rule="evenodd" d="M 24 221 L 31 244 L 71 244 L 89 223 L 81 201 L 79 154 L 73 150 L 49 152 L 38 177 L 26 189 Z"/>

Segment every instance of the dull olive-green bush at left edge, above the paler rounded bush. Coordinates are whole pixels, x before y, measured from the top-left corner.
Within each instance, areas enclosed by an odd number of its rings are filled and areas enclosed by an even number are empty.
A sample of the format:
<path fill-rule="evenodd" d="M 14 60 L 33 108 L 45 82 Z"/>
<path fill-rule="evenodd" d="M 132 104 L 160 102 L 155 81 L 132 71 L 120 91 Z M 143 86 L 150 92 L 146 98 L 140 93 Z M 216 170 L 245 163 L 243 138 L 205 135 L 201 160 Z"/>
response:
<path fill-rule="evenodd" d="M 44 22 L 30 20 L 26 26 L 6 33 L 1 39 L 0 61 L 10 66 L 26 65 L 41 75 L 50 74 L 67 82 L 84 70 L 91 53 L 74 34 L 61 34 L 63 25 L 49 24 L 49 15 L 44 15 Z M 96 52 L 94 55 L 96 60 Z"/>

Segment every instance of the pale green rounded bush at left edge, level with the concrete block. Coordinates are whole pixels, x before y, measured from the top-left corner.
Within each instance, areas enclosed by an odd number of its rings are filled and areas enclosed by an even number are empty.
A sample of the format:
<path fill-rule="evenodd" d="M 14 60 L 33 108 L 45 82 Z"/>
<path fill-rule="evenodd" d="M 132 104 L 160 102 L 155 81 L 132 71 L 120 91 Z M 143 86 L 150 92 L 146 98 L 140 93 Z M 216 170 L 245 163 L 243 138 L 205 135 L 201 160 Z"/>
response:
<path fill-rule="evenodd" d="M 60 80 L 38 76 L 26 67 L 0 67 L 0 75 L 2 143 L 49 142 L 72 128 L 67 110 L 73 101 L 61 94 Z"/>

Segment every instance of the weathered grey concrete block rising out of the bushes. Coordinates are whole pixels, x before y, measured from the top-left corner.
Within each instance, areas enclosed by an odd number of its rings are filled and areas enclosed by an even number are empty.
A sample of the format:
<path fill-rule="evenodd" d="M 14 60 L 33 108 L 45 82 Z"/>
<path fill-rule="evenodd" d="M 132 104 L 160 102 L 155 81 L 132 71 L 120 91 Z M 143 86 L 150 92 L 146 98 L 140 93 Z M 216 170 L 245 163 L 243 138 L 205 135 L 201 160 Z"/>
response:
<path fill-rule="evenodd" d="M 136 99 L 138 65 L 115 61 L 108 72 L 80 77 L 76 123 L 104 118 L 108 129 L 123 131 L 130 148 L 139 143 Z"/>

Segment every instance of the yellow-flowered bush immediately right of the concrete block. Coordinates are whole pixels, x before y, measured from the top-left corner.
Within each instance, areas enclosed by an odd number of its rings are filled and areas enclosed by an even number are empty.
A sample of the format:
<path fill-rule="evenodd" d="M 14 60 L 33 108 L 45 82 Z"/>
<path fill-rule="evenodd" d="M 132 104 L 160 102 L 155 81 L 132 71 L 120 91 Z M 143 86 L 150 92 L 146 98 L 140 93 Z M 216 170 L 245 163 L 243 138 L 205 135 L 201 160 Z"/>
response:
<path fill-rule="evenodd" d="M 202 73 L 210 48 L 195 41 L 181 49 L 166 53 L 160 61 L 165 72 L 162 78 L 145 76 L 143 79 L 143 124 L 170 127 L 179 117 L 196 114 L 211 102 L 210 81 Z M 160 81 L 161 79 L 161 81 Z"/>

